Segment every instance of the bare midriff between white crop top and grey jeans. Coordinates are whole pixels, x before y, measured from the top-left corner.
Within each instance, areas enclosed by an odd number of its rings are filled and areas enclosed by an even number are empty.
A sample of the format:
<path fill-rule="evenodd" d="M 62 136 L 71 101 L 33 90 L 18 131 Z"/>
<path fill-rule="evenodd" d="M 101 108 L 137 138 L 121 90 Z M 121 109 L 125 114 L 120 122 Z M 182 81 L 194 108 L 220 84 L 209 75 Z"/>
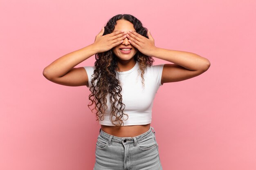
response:
<path fill-rule="evenodd" d="M 139 136 L 150 129 L 150 124 L 132 125 L 132 126 L 106 126 L 101 125 L 101 130 L 116 137 L 135 137 Z"/>

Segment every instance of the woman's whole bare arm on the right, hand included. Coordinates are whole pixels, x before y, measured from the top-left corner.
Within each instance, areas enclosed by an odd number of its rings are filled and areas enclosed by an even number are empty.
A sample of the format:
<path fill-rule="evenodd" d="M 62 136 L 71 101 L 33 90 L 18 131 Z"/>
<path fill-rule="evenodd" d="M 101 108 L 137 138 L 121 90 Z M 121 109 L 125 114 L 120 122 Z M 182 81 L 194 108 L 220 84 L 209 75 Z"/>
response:
<path fill-rule="evenodd" d="M 148 38 L 131 30 L 127 37 L 141 53 L 174 63 L 164 64 L 161 84 L 198 76 L 207 71 L 211 65 L 207 58 L 195 53 L 157 48 L 149 30 Z"/>

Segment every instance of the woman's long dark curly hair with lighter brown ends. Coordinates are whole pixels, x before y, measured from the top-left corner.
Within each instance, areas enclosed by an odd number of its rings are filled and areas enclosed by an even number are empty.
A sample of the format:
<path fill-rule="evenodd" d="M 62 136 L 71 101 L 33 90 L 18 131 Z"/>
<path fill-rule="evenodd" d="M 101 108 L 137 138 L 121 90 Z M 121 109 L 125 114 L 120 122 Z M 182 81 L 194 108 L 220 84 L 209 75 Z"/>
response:
<path fill-rule="evenodd" d="M 142 23 L 130 14 L 119 14 L 108 20 L 103 35 L 110 34 L 114 31 L 117 20 L 127 20 L 131 22 L 137 33 L 148 38 L 147 29 L 143 27 Z M 94 74 L 92 75 L 92 86 L 90 87 L 88 107 L 95 104 L 94 108 L 97 110 L 96 120 L 103 120 L 107 106 L 107 96 L 109 95 L 109 100 L 111 104 L 110 121 L 114 126 L 124 126 L 124 122 L 121 119 L 124 115 L 125 104 L 122 102 L 122 87 L 120 86 L 119 80 L 116 78 L 118 74 L 115 69 L 117 68 L 117 57 L 112 52 L 112 49 L 103 53 L 95 54 L 96 62 Z M 135 62 L 139 62 L 139 69 L 141 70 L 141 83 L 144 86 L 144 73 L 147 66 L 151 66 L 155 61 L 151 56 L 144 55 L 139 50 L 134 55 Z M 96 82 L 96 83 L 95 83 Z M 117 102 L 117 105 L 115 103 Z M 114 119 L 113 119 L 114 117 Z M 128 115 L 127 115 L 128 117 Z M 128 119 L 128 118 L 127 118 Z"/>

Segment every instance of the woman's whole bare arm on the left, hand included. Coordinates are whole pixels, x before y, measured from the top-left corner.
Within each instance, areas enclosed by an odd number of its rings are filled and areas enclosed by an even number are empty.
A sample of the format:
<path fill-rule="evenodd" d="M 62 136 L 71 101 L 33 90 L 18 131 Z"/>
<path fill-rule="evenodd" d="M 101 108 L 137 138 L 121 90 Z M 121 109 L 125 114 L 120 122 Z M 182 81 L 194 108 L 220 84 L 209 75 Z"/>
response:
<path fill-rule="evenodd" d="M 83 67 L 74 68 L 77 64 L 96 53 L 102 53 L 121 44 L 126 32 L 115 31 L 103 35 L 104 27 L 96 35 L 94 43 L 58 58 L 43 70 L 45 78 L 65 86 L 88 86 L 88 75 Z"/>

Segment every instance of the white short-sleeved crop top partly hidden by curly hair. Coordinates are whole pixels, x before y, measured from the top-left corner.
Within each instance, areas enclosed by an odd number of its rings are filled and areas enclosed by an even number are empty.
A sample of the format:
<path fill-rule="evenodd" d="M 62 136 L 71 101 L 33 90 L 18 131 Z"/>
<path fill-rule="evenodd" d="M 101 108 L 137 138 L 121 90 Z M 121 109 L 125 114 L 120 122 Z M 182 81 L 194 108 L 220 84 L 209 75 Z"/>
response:
<path fill-rule="evenodd" d="M 147 66 L 145 68 L 145 88 L 143 88 L 143 84 L 141 83 L 142 78 L 140 76 L 139 62 L 136 62 L 135 66 L 128 71 L 116 71 L 117 79 L 119 79 L 120 86 L 122 87 L 122 102 L 125 104 L 125 108 L 124 106 L 122 108 L 124 108 L 124 113 L 128 115 L 128 119 L 126 115 L 123 115 L 121 118 L 124 121 L 124 126 L 151 123 L 153 100 L 159 86 L 162 86 L 161 77 L 163 67 L 164 64 Z M 89 86 L 87 87 L 90 88 L 92 86 L 92 74 L 95 66 L 84 66 L 84 68 L 88 75 Z M 109 95 L 107 97 L 109 99 Z M 107 106 L 104 120 L 99 120 L 99 124 L 115 126 L 110 121 L 111 104 L 109 101 L 107 101 Z"/>

